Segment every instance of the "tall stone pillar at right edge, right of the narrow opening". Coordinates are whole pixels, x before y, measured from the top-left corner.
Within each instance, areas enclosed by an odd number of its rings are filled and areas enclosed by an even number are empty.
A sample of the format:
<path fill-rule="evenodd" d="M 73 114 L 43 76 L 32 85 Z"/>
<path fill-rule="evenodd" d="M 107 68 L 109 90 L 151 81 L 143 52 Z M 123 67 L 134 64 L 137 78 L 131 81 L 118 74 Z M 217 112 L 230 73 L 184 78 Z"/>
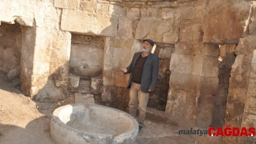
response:
<path fill-rule="evenodd" d="M 255 127 L 256 117 L 256 36 L 240 38 L 232 65 L 225 112 L 225 125 L 230 127 Z M 244 139 L 224 138 L 225 143 L 255 143 L 255 137 Z"/>

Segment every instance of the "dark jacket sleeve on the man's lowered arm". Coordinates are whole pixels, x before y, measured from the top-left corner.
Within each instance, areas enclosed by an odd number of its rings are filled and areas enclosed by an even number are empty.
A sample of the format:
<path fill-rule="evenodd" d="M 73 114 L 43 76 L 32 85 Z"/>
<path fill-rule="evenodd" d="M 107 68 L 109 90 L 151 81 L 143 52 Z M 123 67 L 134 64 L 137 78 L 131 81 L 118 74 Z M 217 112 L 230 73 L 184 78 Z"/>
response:
<path fill-rule="evenodd" d="M 157 83 L 158 72 L 159 72 L 159 57 L 156 57 L 152 66 L 152 79 L 149 86 L 149 88 L 153 91 L 155 90 L 155 85 Z"/>

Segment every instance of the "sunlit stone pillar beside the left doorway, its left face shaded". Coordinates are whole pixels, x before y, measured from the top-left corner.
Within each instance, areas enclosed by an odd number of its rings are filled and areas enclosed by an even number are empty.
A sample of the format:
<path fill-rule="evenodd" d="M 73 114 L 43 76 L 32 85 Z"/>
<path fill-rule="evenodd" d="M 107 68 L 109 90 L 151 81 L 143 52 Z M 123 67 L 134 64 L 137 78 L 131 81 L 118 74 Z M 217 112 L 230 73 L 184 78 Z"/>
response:
<path fill-rule="evenodd" d="M 21 54 L 21 90 L 33 98 L 47 83 L 50 59 L 43 27 L 24 27 Z"/>

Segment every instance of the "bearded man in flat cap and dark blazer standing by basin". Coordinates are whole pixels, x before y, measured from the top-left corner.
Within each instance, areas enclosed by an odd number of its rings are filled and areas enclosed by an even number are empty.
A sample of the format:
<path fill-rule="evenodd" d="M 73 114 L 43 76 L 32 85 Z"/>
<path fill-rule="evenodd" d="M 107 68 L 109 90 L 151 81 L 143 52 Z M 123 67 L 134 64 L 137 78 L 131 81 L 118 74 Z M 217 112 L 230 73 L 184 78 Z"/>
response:
<path fill-rule="evenodd" d="M 149 92 L 155 90 L 155 84 L 157 83 L 159 57 L 151 53 L 154 44 L 151 39 L 143 40 L 142 52 L 136 52 L 131 64 L 121 69 L 125 74 L 131 73 L 127 85 L 127 88 L 131 88 L 129 113 L 135 117 L 138 106 L 139 130 L 144 126 L 143 121 L 146 115 Z"/>

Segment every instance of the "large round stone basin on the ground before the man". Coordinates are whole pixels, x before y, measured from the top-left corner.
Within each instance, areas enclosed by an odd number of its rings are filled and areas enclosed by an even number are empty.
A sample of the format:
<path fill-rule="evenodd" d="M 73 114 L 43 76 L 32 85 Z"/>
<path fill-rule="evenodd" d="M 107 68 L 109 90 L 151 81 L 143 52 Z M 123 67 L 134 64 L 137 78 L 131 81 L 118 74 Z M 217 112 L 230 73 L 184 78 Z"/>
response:
<path fill-rule="evenodd" d="M 135 118 L 102 105 L 61 106 L 51 119 L 55 144 L 134 144 L 137 135 Z"/>

